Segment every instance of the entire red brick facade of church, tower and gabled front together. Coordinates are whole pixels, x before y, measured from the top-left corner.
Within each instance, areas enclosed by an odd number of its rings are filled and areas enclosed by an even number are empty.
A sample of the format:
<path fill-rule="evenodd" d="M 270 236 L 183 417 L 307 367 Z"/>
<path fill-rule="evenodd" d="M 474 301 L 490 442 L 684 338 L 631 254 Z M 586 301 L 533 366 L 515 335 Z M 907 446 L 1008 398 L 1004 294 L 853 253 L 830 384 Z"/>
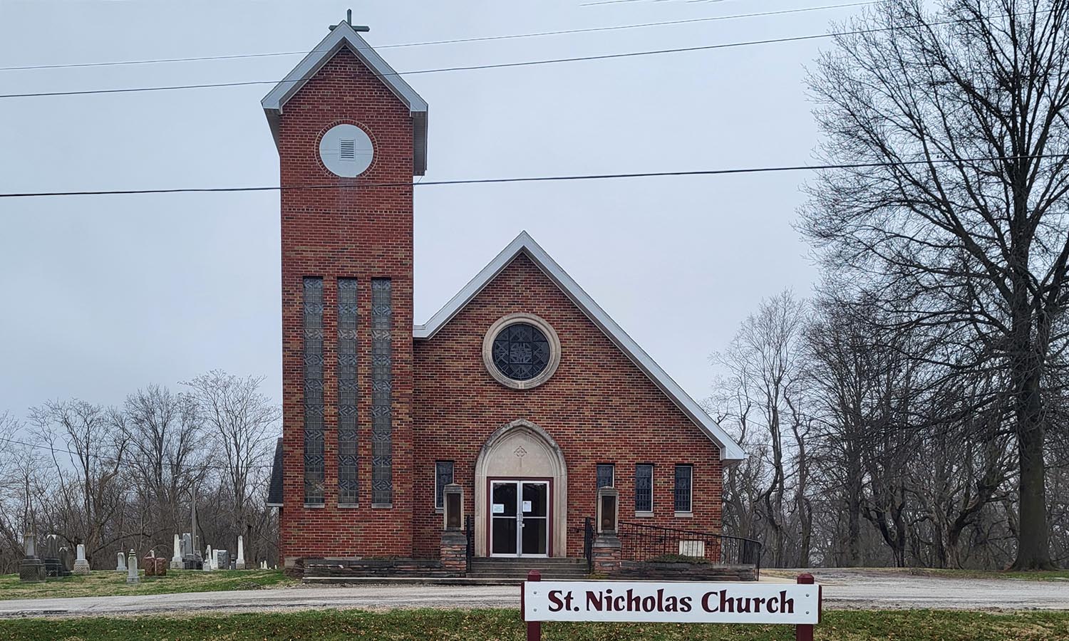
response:
<path fill-rule="evenodd" d="M 319 140 L 348 123 L 374 143 L 371 167 L 340 178 L 319 159 Z M 474 513 L 476 458 L 498 427 L 525 420 L 559 444 L 568 468 L 567 550 L 582 554 L 594 515 L 595 466 L 616 466 L 621 520 L 715 532 L 721 525 L 717 445 L 551 281 L 517 255 L 430 339 L 413 339 L 413 120 L 409 110 L 347 49 L 284 105 L 278 128 L 283 186 L 283 507 L 280 557 L 436 558 L 441 515 L 435 462 L 454 463 Z M 383 186 L 389 184 L 389 186 Z M 398 186 L 401 184 L 402 186 Z M 326 186 L 326 188 L 323 188 Z M 303 287 L 323 279 L 325 501 L 304 502 Z M 359 502 L 338 505 L 337 279 L 358 280 Z M 371 505 L 371 280 L 392 280 L 393 500 Z M 560 340 L 560 364 L 540 387 L 514 390 L 486 372 L 483 337 L 500 317 L 537 314 Z M 653 515 L 636 517 L 636 464 L 653 464 Z M 677 464 L 694 466 L 693 515 L 673 512 Z M 556 506 L 560 509 L 561 506 Z"/>

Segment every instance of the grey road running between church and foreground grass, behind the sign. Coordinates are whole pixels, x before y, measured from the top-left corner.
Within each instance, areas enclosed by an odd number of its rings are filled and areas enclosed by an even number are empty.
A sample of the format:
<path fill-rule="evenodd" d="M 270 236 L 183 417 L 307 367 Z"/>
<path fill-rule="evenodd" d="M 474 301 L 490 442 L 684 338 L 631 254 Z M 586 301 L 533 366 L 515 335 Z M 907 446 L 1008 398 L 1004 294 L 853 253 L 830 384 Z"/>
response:
<path fill-rule="evenodd" d="M 818 569 L 812 573 L 824 585 L 824 606 L 830 609 L 1069 610 L 1069 581 L 947 579 L 885 570 Z M 515 587 L 359 585 L 0 600 L 0 617 L 518 606 L 518 588 Z"/>

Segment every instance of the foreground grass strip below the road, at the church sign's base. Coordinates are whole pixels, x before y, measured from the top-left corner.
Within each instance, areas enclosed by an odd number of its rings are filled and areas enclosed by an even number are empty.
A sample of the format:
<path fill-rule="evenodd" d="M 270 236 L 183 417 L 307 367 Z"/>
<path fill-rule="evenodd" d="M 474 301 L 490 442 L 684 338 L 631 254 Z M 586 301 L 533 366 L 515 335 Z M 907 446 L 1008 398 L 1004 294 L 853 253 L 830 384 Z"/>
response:
<path fill-rule="evenodd" d="M 789 641 L 791 626 L 546 623 L 546 641 Z M 1040 641 L 1069 638 L 1069 612 L 992 614 L 931 610 L 826 613 L 818 640 Z M 312 611 L 228 616 L 0 620 L 0 641 L 170 639 L 524 639 L 516 610 Z"/>

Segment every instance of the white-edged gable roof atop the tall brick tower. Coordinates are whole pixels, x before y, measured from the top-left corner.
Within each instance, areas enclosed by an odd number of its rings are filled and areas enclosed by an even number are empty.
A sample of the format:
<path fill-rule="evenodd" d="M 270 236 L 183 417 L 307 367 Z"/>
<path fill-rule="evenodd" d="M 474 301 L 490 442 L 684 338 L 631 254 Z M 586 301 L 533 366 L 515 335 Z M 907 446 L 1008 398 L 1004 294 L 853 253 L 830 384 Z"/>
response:
<path fill-rule="evenodd" d="M 338 22 L 330 33 L 260 101 L 270 125 L 272 135 L 275 137 L 275 145 L 278 145 L 279 116 L 286 101 L 300 91 L 300 88 L 342 47 L 348 48 L 408 108 L 413 120 L 413 174 L 423 175 L 427 173 L 427 100 L 419 97 L 401 75 L 394 72 L 393 67 L 387 64 L 345 20 Z"/>

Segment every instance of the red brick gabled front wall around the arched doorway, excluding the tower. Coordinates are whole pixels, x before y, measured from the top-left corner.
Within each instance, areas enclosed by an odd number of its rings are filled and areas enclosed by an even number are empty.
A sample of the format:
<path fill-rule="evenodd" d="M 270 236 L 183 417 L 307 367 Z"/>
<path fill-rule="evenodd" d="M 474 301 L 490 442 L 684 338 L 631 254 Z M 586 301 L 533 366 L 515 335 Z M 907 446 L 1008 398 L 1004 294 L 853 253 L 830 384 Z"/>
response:
<path fill-rule="evenodd" d="M 512 390 L 486 373 L 482 340 L 498 318 L 533 313 L 561 343 L 556 374 L 532 390 Z M 438 553 L 441 517 L 434 512 L 434 462 L 454 460 L 474 514 L 475 463 L 501 425 L 526 419 L 557 441 L 568 464 L 568 525 L 594 516 L 595 466 L 616 465 L 620 519 L 718 531 L 719 451 L 525 255 L 512 264 L 433 339 L 415 345 L 414 537 L 417 557 Z M 635 517 L 635 464 L 652 463 L 653 516 Z M 676 464 L 694 466 L 693 517 L 675 516 Z M 569 532 L 568 556 L 582 554 L 582 532 Z"/>

